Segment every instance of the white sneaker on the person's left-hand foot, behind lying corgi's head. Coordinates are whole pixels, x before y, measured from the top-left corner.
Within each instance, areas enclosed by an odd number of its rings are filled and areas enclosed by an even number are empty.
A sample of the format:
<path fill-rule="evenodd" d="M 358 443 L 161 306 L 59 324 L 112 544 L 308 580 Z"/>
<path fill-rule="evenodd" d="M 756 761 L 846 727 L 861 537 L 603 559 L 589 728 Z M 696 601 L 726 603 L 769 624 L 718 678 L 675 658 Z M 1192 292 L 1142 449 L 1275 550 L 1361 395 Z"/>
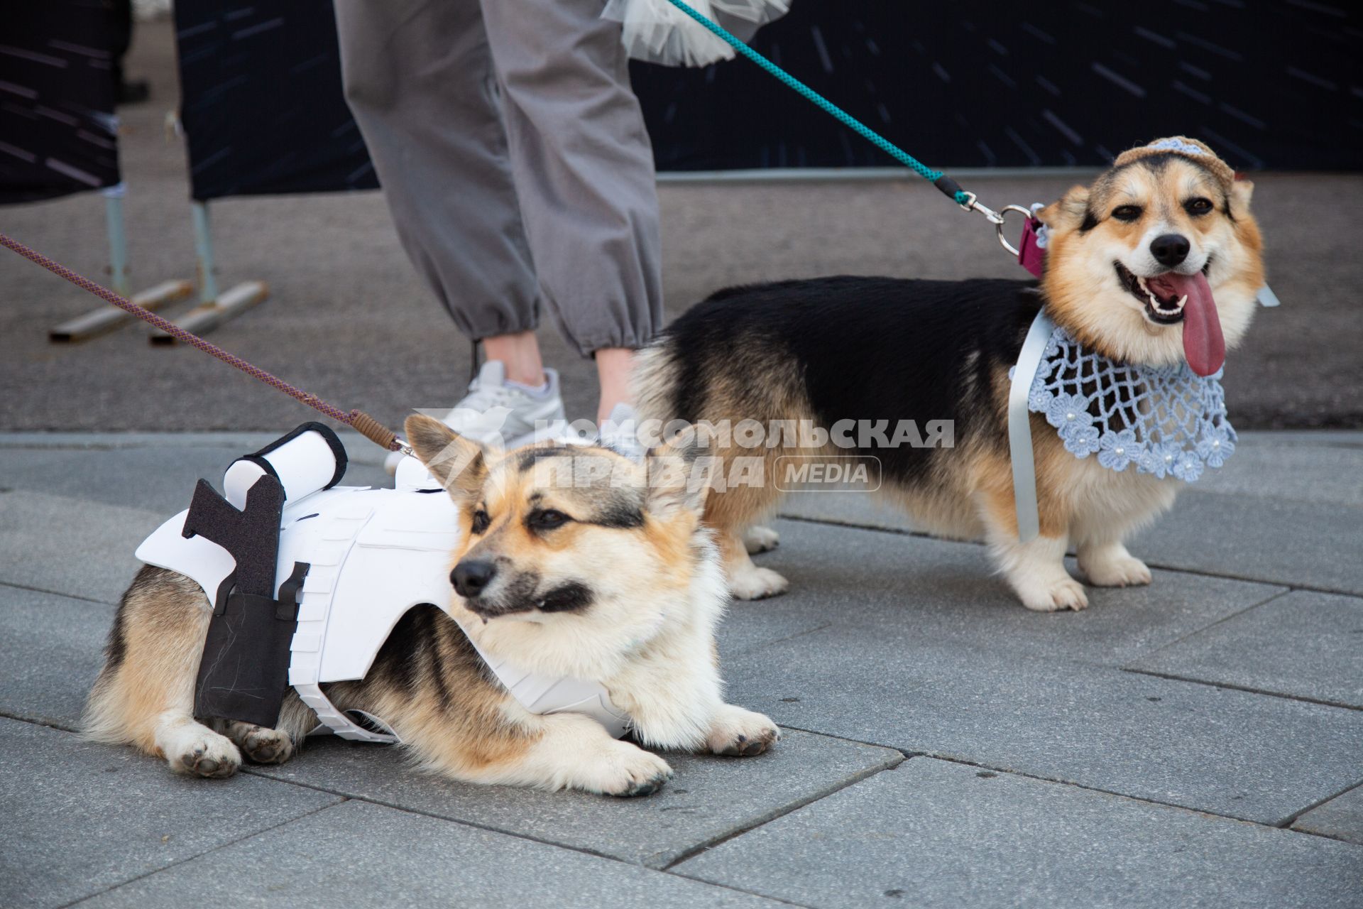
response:
<path fill-rule="evenodd" d="M 503 451 L 563 436 L 568 421 L 559 394 L 559 373 L 544 371 L 549 387 L 542 394 L 508 384 L 506 375 L 500 360 L 484 363 L 478 378 L 469 383 L 469 394 L 440 421 L 461 436 Z M 391 452 L 383 462 L 384 469 L 395 474 L 403 457 L 401 451 Z"/>

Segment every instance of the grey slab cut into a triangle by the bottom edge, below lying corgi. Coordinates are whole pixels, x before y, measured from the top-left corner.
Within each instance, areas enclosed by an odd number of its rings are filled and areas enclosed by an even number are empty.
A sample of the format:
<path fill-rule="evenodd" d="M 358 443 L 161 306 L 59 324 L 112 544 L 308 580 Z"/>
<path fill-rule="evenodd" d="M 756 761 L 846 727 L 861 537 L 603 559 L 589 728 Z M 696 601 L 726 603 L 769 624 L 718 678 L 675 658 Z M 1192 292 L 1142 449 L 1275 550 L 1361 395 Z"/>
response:
<path fill-rule="evenodd" d="M 687 878 L 349 801 L 142 878 L 90 909 L 732 906 L 781 904 Z"/>

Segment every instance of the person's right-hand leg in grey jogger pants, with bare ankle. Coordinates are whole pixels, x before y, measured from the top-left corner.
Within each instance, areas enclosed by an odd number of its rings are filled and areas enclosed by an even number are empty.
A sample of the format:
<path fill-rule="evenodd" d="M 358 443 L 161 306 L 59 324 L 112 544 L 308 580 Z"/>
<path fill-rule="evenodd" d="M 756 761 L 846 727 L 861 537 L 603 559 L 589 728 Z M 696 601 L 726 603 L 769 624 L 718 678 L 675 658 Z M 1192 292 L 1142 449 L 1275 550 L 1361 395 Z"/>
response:
<path fill-rule="evenodd" d="M 544 298 L 596 354 L 604 418 L 662 326 L 653 150 L 620 25 L 600 0 L 483 0 L 511 165 Z"/>

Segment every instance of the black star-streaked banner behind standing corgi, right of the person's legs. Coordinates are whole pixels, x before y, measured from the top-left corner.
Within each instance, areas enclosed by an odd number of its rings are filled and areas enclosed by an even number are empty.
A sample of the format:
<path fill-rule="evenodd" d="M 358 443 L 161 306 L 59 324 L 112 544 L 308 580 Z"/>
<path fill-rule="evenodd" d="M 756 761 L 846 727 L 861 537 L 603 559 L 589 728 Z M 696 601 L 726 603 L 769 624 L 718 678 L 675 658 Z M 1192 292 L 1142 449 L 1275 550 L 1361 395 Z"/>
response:
<path fill-rule="evenodd" d="M 932 166 L 1103 166 L 1156 136 L 1232 166 L 1363 166 L 1363 4 L 793 0 L 754 48 Z M 751 63 L 638 65 L 660 169 L 893 165 Z"/>

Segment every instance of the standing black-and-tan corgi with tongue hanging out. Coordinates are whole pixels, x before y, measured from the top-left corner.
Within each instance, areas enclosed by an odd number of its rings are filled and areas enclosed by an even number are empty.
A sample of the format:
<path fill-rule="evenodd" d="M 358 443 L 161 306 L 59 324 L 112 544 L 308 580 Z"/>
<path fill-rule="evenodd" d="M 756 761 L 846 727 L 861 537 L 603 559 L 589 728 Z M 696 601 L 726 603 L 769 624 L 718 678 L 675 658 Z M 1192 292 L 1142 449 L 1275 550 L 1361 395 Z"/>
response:
<path fill-rule="evenodd" d="M 786 589 L 781 575 L 750 559 L 776 542 L 758 522 L 782 496 L 778 459 L 829 463 L 848 455 L 879 458 L 882 492 L 921 527 L 988 541 L 1029 609 L 1088 605 L 1063 564 L 1070 545 L 1092 585 L 1149 583 L 1123 540 L 1167 510 L 1180 482 L 1163 470 L 1112 470 L 1075 457 L 1040 413 L 1030 414 L 1040 536 L 1020 542 L 1009 371 L 1044 309 L 1084 349 L 1111 361 L 1214 373 L 1244 335 L 1264 285 L 1251 189 L 1202 143 L 1163 139 L 1124 153 L 1090 187 L 1074 187 L 1040 211 L 1048 248 L 1039 286 L 789 281 L 722 290 L 677 319 L 642 354 L 641 421 L 812 421 L 827 429 L 840 420 L 894 427 L 912 418 L 954 428 L 951 447 L 886 447 L 864 436 L 844 436 L 855 444 L 842 447 L 827 439 L 792 444 L 786 435 L 776 444 L 769 435 L 761 448 L 718 447 L 721 459 L 765 461 L 763 482 L 716 488 L 706 503 L 735 596 Z M 1094 420 L 1104 406 L 1097 395 L 1092 413 L 1067 416 Z"/>

